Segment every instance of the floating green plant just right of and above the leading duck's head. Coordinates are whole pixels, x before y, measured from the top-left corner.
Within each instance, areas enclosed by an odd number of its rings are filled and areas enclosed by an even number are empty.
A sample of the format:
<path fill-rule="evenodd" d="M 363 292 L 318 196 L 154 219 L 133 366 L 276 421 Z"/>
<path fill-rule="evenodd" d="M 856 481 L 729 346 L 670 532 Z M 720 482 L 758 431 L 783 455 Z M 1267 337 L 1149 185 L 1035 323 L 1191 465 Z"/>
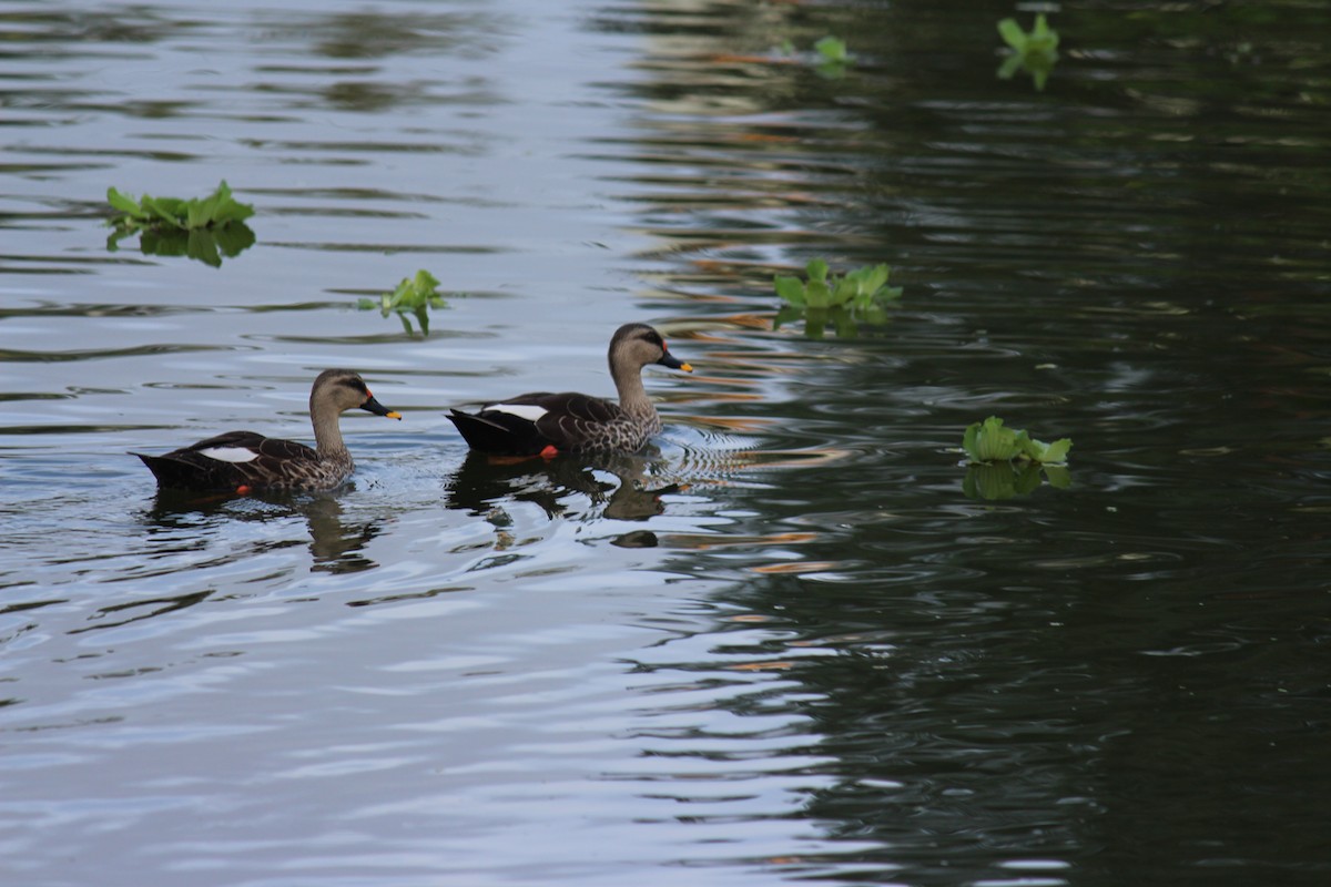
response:
<path fill-rule="evenodd" d="M 837 335 L 852 336 L 860 323 L 882 326 L 888 322 L 888 307 L 901 298 L 901 287 L 888 286 L 892 269 L 873 265 L 836 277 L 823 259 L 812 259 L 804 266 L 807 279 L 777 275 L 772 278 L 776 294 L 785 305 L 777 311 L 773 328 L 783 323 L 804 319 L 804 332 L 821 338 L 828 322 Z"/>

